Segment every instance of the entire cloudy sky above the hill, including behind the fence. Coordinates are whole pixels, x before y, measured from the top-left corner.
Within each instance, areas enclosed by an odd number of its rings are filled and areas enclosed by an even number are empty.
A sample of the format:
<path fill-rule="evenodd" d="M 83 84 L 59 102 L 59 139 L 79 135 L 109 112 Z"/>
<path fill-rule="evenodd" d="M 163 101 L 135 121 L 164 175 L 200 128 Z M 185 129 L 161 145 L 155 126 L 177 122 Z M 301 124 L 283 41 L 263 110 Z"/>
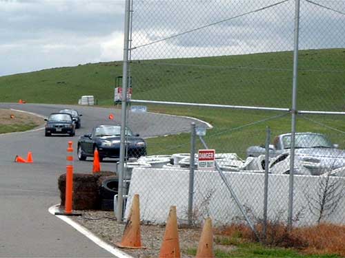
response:
<path fill-rule="evenodd" d="M 345 1 L 301 0 L 300 47 L 345 47 Z M 293 50 L 295 0 L 134 0 L 132 58 Z M 125 0 L 0 0 L 0 76 L 122 60 Z M 341 13 L 342 12 L 342 13 Z"/>

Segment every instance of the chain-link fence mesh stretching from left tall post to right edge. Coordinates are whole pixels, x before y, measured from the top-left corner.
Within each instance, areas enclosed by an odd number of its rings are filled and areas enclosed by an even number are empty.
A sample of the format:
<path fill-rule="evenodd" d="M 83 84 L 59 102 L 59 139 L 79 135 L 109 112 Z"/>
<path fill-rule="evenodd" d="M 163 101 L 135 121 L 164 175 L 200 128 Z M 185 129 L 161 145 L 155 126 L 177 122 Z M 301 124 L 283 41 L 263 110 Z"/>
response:
<path fill-rule="evenodd" d="M 344 1 L 129 6 L 126 124 L 150 133 L 147 155 L 124 166 L 128 203 L 140 194 L 143 219 L 165 222 L 176 205 L 186 223 L 285 223 L 291 211 L 288 224 L 344 224 Z M 190 166 L 192 123 L 206 130 L 195 136 L 196 153 L 215 149 L 213 171 Z"/>

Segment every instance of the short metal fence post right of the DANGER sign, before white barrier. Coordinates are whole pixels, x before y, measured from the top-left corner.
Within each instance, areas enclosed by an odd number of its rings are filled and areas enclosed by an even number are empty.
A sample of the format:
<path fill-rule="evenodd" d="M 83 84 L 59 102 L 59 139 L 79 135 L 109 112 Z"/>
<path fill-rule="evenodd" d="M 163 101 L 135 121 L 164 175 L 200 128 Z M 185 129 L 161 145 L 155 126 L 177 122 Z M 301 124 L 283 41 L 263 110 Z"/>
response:
<path fill-rule="evenodd" d="M 266 153 L 265 153 L 265 180 L 264 180 L 264 228 L 263 228 L 263 235 L 266 241 L 266 233 L 267 233 L 267 206 L 268 206 L 268 169 L 269 169 L 269 162 L 270 162 L 270 127 L 266 128 Z"/>

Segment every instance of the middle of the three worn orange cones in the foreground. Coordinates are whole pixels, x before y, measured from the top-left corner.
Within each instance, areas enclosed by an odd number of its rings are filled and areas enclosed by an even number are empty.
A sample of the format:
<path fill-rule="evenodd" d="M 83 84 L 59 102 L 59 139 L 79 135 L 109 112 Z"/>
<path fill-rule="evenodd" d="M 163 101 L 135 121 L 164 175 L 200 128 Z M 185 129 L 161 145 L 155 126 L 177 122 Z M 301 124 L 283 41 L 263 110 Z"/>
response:
<path fill-rule="evenodd" d="M 179 233 L 177 230 L 176 206 L 170 207 L 168 221 L 166 222 L 166 233 L 164 234 L 163 243 L 161 244 L 161 251 L 159 252 L 159 258 L 161 257 L 181 257 L 181 253 L 179 251 Z"/>

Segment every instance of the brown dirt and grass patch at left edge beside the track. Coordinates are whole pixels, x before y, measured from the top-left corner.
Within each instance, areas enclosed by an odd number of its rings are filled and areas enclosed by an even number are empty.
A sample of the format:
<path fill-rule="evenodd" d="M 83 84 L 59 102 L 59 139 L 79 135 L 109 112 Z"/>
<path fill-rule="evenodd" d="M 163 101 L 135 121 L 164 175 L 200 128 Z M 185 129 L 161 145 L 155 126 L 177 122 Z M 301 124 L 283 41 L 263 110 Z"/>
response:
<path fill-rule="evenodd" d="M 34 116 L 32 114 L 27 114 L 19 111 L 12 111 L 10 109 L 0 109 L 1 127 L 10 128 L 3 132 L 25 131 L 34 127 L 39 127 L 43 124 L 44 120 L 39 116 Z"/>

